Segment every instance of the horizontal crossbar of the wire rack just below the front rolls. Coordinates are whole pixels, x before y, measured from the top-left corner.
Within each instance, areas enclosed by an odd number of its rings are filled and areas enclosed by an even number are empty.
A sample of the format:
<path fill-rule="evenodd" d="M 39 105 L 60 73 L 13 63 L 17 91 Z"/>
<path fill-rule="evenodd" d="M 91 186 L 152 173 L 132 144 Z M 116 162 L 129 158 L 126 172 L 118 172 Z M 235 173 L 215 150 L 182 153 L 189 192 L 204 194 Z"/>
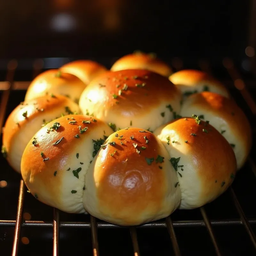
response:
<path fill-rule="evenodd" d="M 256 219 L 247 219 L 251 225 L 256 225 Z M 0 227 L 15 227 L 16 220 L 0 220 Z M 210 220 L 212 226 L 234 226 L 243 225 L 240 219 L 229 219 L 229 220 Z M 204 227 L 205 223 L 202 220 L 182 220 L 182 221 L 172 221 L 173 227 L 186 228 L 186 227 Z M 51 228 L 53 227 L 53 222 L 51 221 L 37 221 L 37 220 L 26 220 L 22 222 L 22 227 L 31 228 Z M 166 228 L 167 225 L 163 221 L 156 221 L 154 223 L 146 223 L 136 228 Z M 90 222 L 72 222 L 64 221 L 60 222 L 60 228 L 91 228 Z M 124 229 L 128 227 L 116 226 L 107 222 L 98 222 L 97 228 L 117 228 Z"/>

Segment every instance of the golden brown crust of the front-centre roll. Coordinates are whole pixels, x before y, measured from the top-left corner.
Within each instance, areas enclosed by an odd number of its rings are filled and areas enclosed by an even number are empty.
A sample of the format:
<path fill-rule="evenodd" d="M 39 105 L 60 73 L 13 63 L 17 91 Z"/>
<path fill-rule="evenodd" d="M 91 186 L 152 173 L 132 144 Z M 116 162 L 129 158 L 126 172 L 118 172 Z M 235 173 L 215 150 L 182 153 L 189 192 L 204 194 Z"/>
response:
<path fill-rule="evenodd" d="M 99 184 L 97 198 L 100 211 L 109 213 L 113 220 L 118 220 L 122 215 L 120 209 L 129 208 L 132 214 L 125 218 L 127 225 L 140 221 L 140 215 L 148 204 L 153 216 L 162 209 L 168 183 L 164 171 L 159 166 L 163 169 L 171 167 L 167 159 L 168 154 L 156 136 L 151 132 L 139 131 L 143 130 L 129 128 L 108 137 L 106 144 L 115 142 L 115 145 L 107 144 L 107 147 L 100 151 L 100 165 L 97 165 L 97 169 L 104 172 L 95 176 L 95 181 Z M 156 163 L 158 155 L 165 157 L 163 163 Z M 150 158 L 154 158 L 152 163 Z M 118 179 L 122 180 L 121 185 L 117 186 L 111 176 L 118 176 Z"/>

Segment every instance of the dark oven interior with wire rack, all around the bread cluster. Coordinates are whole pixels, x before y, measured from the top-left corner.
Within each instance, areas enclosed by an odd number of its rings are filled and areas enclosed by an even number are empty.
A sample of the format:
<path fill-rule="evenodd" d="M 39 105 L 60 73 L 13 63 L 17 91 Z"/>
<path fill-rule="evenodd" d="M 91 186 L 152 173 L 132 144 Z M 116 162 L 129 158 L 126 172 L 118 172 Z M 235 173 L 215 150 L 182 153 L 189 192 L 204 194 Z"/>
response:
<path fill-rule="evenodd" d="M 116 58 L 140 49 L 156 52 L 174 71 L 195 68 L 217 77 L 244 110 L 254 133 L 252 2 L 26 2 L 1 3 L 1 131 L 24 100 L 29 81 L 43 70 L 82 58 L 109 68 Z M 73 30 L 52 30 L 48 21 L 62 12 L 75 17 Z M 115 22 L 112 27 L 105 24 L 108 12 L 117 15 L 116 27 Z M 40 203 L 1 155 L 0 255 L 255 255 L 254 154 L 255 144 L 232 187 L 212 203 L 132 228 Z"/>

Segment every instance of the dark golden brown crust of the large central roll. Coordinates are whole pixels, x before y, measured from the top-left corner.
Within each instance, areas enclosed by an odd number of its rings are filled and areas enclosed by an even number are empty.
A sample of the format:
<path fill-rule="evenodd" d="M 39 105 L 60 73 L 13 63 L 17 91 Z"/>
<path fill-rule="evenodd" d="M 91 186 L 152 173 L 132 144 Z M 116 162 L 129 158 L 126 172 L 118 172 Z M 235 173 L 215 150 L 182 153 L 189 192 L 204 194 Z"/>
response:
<path fill-rule="evenodd" d="M 123 89 L 125 85 L 127 90 Z M 130 69 L 109 71 L 94 79 L 81 95 L 79 105 L 84 111 L 81 103 L 88 98 L 95 109 L 104 106 L 121 116 L 142 116 L 176 97 L 180 97 L 180 92 L 168 78 L 151 71 Z"/>

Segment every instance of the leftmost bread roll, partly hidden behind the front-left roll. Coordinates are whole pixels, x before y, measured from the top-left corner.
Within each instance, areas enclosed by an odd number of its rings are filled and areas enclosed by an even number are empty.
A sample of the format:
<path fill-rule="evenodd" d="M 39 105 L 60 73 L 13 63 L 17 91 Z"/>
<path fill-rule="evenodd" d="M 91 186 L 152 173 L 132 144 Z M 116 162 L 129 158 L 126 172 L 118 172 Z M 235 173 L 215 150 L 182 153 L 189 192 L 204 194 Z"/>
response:
<path fill-rule="evenodd" d="M 28 141 L 42 125 L 71 112 L 79 113 L 78 105 L 62 95 L 21 102 L 12 111 L 4 125 L 3 151 L 16 172 L 20 172 L 21 156 Z"/>

